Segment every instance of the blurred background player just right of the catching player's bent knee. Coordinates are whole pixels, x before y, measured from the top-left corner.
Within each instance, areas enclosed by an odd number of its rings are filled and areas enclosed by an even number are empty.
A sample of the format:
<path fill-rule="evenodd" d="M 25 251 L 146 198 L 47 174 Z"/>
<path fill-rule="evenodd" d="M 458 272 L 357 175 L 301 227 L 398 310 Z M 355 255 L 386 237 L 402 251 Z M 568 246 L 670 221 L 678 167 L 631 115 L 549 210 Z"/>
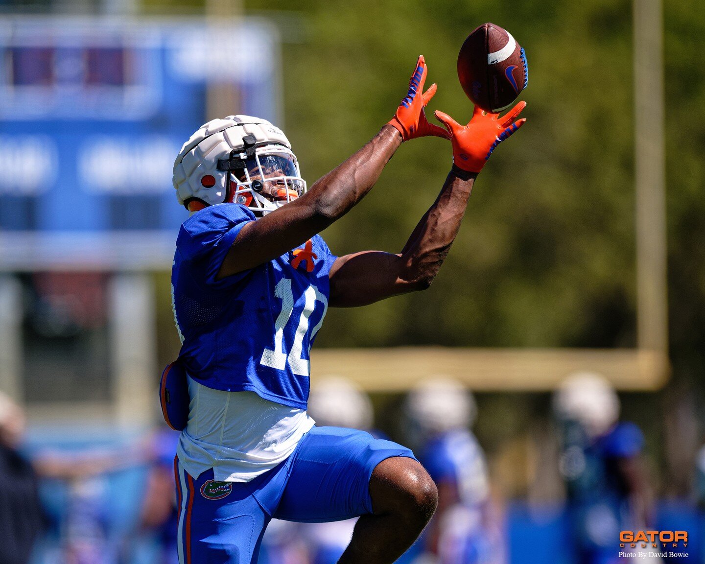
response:
<path fill-rule="evenodd" d="M 415 562 L 503 563 L 500 512 L 484 452 L 470 431 L 477 417 L 472 393 L 451 379 L 428 379 L 407 397 L 406 415 L 419 460 L 439 489 L 436 515 L 419 543 L 424 554 Z"/>

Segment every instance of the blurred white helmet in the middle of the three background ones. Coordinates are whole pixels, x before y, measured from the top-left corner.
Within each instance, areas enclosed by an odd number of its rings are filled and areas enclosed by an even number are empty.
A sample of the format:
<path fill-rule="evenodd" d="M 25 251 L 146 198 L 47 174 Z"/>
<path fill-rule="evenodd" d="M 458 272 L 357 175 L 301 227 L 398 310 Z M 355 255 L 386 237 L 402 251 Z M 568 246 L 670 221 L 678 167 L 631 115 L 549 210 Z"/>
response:
<path fill-rule="evenodd" d="M 460 382 L 444 376 L 420 381 L 406 400 L 407 415 L 426 435 L 472 427 L 477 405 Z"/>

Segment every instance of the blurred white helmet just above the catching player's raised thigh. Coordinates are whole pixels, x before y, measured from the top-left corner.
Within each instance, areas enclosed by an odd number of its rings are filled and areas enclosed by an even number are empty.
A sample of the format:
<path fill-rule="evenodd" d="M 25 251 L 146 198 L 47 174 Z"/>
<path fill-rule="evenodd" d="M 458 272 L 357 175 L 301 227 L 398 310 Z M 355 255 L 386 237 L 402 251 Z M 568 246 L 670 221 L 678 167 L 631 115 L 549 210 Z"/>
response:
<path fill-rule="evenodd" d="M 366 430 L 372 427 L 372 403 L 353 382 L 329 376 L 312 388 L 308 410 L 317 424 Z"/>

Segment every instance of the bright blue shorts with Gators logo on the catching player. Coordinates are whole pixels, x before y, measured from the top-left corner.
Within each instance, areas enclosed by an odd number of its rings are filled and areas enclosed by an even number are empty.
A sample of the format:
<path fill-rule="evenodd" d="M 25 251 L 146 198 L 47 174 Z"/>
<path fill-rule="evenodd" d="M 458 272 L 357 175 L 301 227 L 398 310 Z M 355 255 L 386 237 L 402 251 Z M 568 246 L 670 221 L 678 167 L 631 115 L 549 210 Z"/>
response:
<path fill-rule="evenodd" d="M 408 448 L 369 433 L 314 427 L 293 454 L 252 482 L 214 482 L 213 470 L 192 478 L 178 462 L 180 564 L 255 564 L 272 517 L 324 522 L 372 513 L 369 479 L 382 460 Z"/>

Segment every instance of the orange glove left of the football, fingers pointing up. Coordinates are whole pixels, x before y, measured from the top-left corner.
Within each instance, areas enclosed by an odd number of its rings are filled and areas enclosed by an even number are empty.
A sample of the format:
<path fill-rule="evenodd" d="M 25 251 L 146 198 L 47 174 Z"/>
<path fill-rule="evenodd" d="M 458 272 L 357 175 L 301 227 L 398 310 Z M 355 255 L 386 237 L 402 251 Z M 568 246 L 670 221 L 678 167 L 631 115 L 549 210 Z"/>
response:
<path fill-rule="evenodd" d="M 450 135 L 446 133 L 446 130 L 439 128 L 438 125 L 431 125 L 426 119 L 424 107 L 436 94 L 435 84 L 432 84 L 429 90 L 424 92 L 424 82 L 426 82 L 428 71 L 424 56 L 419 56 L 415 71 L 409 80 L 409 92 L 399 104 L 394 117 L 389 121 L 389 124 L 393 125 L 401 134 L 403 141 L 408 141 L 415 137 L 425 137 L 426 135 L 450 139 Z M 424 92 L 424 94 L 419 96 L 419 92 Z"/>

